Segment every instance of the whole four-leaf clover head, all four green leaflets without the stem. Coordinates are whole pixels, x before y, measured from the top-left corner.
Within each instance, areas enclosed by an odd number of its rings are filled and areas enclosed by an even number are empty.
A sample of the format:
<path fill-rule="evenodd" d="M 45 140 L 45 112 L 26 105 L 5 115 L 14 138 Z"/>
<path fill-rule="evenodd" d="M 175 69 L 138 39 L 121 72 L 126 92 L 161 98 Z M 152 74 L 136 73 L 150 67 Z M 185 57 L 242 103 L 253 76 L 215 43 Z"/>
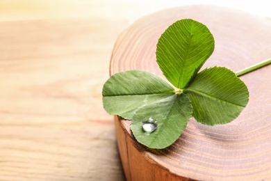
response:
<path fill-rule="evenodd" d="M 247 105 L 249 93 L 227 68 L 198 73 L 214 47 L 213 36 L 204 24 L 192 19 L 175 22 L 159 38 L 156 58 L 176 91 L 149 72 L 120 72 L 104 84 L 104 109 L 132 120 L 136 140 L 158 149 L 174 143 L 192 116 L 204 125 L 231 122 Z"/>

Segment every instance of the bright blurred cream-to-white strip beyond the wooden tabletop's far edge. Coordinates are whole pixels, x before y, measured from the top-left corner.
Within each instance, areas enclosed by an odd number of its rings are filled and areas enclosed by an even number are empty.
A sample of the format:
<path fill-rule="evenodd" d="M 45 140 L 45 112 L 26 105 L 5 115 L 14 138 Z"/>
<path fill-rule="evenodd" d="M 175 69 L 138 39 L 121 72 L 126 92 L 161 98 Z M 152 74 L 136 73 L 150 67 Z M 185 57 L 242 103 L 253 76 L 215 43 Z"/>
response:
<path fill-rule="evenodd" d="M 81 0 L 35 1 L 1 0 L 0 17 L 5 20 L 92 18 L 127 19 L 129 22 L 157 10 L 176 6 L 206 4 L 237 8 L 250 13 L 270 17 L 267 1 L 215 1 L 215 0 Z"/>

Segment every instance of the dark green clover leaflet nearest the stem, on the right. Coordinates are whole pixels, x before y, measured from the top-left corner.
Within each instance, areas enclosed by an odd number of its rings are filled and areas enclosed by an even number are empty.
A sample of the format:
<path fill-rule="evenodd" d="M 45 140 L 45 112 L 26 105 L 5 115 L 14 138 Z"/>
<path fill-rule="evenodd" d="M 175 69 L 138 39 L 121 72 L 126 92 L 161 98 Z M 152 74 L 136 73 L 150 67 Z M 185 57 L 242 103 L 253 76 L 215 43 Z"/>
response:
<path fill-rule="evenodd" d="M 204 125 L 231 122 L 245 108 L 247 86 L 227 68 L 208 68 L 199 72 L 183 91 L 192 102 L 192 116 Z"/>

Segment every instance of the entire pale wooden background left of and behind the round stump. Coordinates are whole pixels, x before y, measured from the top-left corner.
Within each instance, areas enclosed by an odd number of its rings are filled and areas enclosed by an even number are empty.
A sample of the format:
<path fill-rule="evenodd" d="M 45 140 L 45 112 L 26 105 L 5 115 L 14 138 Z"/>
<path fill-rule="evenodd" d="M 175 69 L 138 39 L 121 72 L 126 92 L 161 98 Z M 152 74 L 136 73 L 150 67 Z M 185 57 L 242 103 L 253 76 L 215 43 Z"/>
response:
<path fill-rule="evenodd" d="M 0 180 L 124 180 L 101 102 L 114 42 L 139 17 L 193 3 L 1 0 Z M 267 16 L 266 3 L 218 5 Z"/>

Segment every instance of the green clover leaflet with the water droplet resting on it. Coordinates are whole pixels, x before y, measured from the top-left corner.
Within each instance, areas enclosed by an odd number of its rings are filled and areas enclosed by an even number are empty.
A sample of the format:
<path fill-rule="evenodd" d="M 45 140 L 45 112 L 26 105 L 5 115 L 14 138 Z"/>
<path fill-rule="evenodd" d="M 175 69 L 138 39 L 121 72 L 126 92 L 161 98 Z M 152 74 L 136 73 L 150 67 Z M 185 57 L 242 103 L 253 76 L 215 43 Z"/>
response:
<path fill-rule="evenodd" d="M 131 130 L 138 142 L 149 148 L 165 148 L 179 138 L 191 114 L 192 106 L 188 97 L 174 94 L 139 109 L 132 118 Z M 151 134 L 142 129 L 142 120 L 149 118 L 157 122 L 157 129 Z"/>

